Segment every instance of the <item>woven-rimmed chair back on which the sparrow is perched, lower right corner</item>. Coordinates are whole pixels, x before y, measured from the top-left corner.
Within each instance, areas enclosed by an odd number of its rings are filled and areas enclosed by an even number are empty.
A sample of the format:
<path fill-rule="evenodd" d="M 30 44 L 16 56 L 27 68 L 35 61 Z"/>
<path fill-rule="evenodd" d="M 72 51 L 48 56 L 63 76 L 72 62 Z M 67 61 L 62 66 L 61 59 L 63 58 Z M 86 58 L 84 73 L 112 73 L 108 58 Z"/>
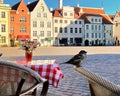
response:
<path fill-rule="evenodd" d="M 116 85 L 83 67 L 75 67 L 75 70 L 88 80 L 91 96 L 120 96 L 119 85 Z"/>

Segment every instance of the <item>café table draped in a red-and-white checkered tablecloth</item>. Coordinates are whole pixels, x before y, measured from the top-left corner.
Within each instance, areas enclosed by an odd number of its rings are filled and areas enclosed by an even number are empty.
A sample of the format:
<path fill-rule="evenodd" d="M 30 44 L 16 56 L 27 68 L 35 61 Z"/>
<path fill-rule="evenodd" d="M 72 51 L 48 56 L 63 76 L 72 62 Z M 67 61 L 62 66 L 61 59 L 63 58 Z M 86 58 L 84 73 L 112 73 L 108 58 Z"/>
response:
<path fill-rule="evenodd" d="M 58 87 L 60 79 L 64 77 L 56 60 L 32 60 L 28 63 L 24 60 L 17 60 L 15 62 L 36 71 L 41 77 L 47 79 L 49 84 L 53 85 L 55 88 Z"/>

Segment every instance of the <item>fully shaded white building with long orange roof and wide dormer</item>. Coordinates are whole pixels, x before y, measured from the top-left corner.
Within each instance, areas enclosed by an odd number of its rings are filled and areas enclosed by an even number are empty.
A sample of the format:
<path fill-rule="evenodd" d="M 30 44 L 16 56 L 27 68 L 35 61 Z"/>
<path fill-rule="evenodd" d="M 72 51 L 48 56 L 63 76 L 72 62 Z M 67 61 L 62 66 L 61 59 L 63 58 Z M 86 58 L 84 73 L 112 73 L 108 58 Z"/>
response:
<path fill-rule="evenodd" d="M 85 45 L 113 45 L 113 24 L 103 8 L 80 8 L 85 22 Z"/>

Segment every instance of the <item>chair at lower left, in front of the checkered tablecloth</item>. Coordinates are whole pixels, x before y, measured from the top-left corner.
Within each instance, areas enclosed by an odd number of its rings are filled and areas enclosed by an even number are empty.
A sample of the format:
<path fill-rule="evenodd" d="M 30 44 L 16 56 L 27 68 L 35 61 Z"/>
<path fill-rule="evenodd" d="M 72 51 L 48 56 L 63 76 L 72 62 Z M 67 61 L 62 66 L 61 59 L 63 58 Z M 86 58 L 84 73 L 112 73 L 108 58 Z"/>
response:
<path fill-rule="evenodd" d="M 36 95 L 36 88 L 42 84 L 41 94 L 46 96 L 49 83 L 30 68 L 12 62 L 0 61 L 0 96 Z"/>

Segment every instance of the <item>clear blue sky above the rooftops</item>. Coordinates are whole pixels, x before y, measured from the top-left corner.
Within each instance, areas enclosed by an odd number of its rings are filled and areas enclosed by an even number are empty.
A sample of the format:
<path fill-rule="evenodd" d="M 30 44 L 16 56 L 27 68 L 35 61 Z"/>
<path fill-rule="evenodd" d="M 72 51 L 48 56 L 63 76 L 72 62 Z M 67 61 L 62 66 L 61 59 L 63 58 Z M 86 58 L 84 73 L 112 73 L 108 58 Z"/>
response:
<path fill-rule="evenodd" d="M 5 4 L 10 6 L 16 4 L 20 0 L 4 0 Z M 33 2 L 35 0 L 24 0 Z M 58 0 L 45 0 L 48 8 L 58 8 Z M 79 4 L 81 7 L 104 8 L 106 14 L 114 15 L 120 10 L 120 0 L 63 0 L 63 6 L 76 6 Z"/>

